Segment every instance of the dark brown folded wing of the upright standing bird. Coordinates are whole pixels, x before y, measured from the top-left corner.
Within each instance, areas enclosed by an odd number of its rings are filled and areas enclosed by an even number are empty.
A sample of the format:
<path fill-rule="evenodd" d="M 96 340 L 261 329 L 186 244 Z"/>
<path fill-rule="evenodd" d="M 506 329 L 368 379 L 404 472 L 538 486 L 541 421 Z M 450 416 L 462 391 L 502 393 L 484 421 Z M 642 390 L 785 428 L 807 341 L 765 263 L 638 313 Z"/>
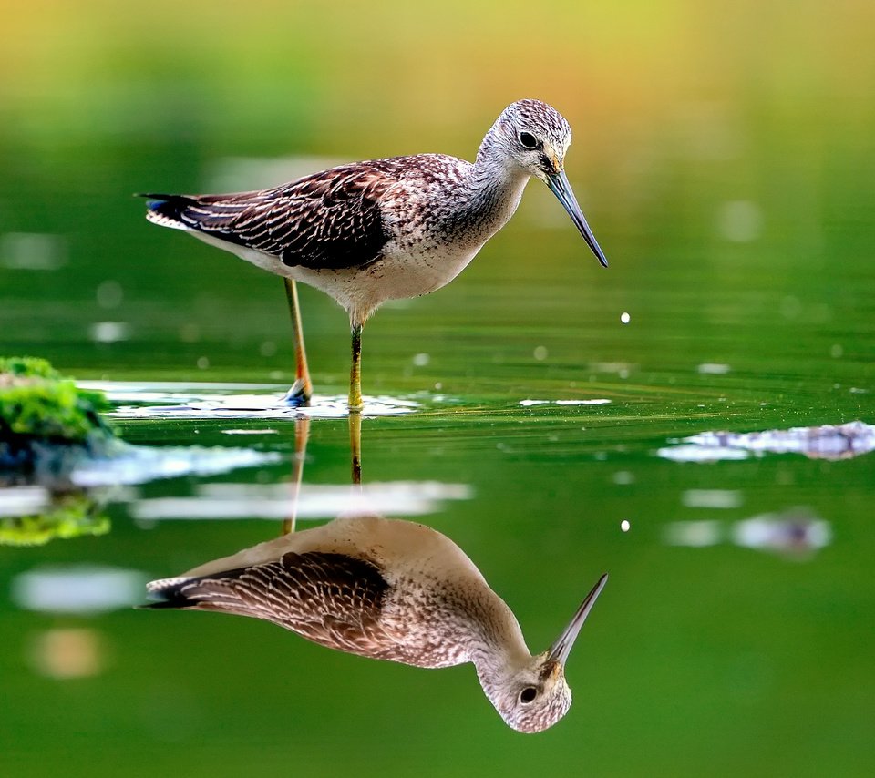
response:
<path fill-rule="evenodd" d="M 389 240 L 380 208 L 403 158 L 358 162 L 275 189 L 229 195 L 146 195 L 149 220 L 314 270 L 364 267 Z"/>

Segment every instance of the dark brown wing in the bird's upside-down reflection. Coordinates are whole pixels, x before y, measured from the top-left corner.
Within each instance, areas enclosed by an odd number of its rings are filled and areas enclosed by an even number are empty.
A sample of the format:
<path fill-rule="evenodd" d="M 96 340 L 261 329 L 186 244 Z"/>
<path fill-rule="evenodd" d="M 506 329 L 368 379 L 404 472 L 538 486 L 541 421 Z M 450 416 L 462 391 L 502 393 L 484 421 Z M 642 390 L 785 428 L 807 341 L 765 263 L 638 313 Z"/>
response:
<path fill-rule="evenodd" d="M 202 578 L 149 584 L 149 608 L 217 610 L 273 621 L 328 648 L 396 659 L 380 626 L 388 589 L 376 565 L 345 554 L 286 552 L 279 559 Z"/>

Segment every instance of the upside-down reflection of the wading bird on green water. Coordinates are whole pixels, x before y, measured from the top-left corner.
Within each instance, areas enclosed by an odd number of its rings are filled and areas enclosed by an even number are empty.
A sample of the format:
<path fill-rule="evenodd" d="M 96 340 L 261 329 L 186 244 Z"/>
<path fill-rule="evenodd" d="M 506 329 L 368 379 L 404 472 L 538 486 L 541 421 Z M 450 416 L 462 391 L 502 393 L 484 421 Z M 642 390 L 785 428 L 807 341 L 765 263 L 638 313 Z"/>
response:
<path fill-rule="evenodd" d="M 265 619 L 330 649 L 422 668 L 473 662 L 501 718 L 540 732 L 571 707 L 565 661 L 607 578 L 532 656 L 510 608 L 450 538 L 359 514 L 152 581 L 145 608 Z"/>

